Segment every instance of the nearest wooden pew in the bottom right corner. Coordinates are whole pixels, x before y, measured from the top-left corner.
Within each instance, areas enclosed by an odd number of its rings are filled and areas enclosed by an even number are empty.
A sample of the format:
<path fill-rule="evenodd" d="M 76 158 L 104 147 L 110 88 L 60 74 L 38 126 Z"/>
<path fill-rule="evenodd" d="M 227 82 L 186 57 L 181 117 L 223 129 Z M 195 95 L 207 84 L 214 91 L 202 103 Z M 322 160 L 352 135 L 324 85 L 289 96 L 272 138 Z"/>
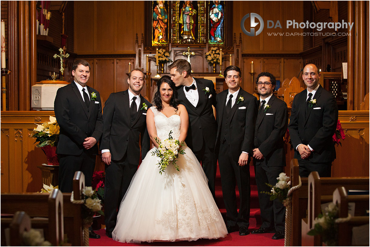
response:
<path fill-rule="evenodd" d="M 356 202 L 354 216 L 347 222 L 338 223 L 339 246 L 352 245 L 352 228 L 369 224 L 369 216 L 364 216 L 365 210 L 369 210 L 369 195 L 347 195 L 347 190 L 342 186 L 333 192 L 333 203 L 339 208 L 339 218 L 348 215 L 348 202 Z M 362 212 L 362 213 L 361 213 Z M 367 235 L 369 238 L 369 235 Z"/>

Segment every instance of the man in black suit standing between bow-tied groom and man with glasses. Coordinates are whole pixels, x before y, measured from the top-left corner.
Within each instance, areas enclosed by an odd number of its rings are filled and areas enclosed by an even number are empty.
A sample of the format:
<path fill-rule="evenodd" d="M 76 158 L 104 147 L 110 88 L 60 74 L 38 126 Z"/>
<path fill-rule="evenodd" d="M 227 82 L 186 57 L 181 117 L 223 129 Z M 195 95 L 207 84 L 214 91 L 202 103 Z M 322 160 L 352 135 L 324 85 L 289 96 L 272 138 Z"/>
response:
<path fill-rule="evenodd" d="M 239 235 L 244 236 L 249 234 L 249 162 L 253 155 L 257 98 L 240 88 L 240 75 L 240 69 L 236 66 L 229 66 L 223 72 L 229 89 L 216 96 L 216 153 L 219 154 L 228 233 L 239 230 Z M 236 207 L 236 184 L 240 196 L 239 213 Z"/>

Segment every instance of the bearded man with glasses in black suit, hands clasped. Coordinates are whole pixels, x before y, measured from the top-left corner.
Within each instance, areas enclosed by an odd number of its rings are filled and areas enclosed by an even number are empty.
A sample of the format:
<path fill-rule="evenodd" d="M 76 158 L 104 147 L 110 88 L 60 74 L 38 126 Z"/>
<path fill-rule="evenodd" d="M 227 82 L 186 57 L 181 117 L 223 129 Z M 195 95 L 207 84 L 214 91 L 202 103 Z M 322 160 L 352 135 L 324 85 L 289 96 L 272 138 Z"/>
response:
<path fill-rule="evenodd" d="M 285 207 L 278 199 L 270 201 L 270 195 L 262 194 L 261 191 L 270 191 L 271 188 L 265 183 L 275 185 L 276 178 L 286 166 L 283 137 L 288 126 L 288 108 L 284 101 L 273 95 L 276 86 L 275 76 L 269 72 L 262 72 L 257 76 L 256 84 L 260 99 L 253 163 L 262 225 L 251 233 L 276 231 L 272 239 L 281 239 L 285 234 Z"/>

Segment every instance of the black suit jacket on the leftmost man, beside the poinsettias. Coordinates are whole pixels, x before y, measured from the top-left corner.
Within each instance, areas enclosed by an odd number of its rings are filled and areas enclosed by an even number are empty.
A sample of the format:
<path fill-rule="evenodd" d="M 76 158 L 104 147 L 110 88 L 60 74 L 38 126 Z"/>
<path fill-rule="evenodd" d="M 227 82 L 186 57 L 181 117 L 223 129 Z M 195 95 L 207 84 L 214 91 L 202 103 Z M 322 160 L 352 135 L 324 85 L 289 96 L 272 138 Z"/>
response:
<path fill-rule="evenodd" d="M 97 142 L 103 131 L 100 94 L 87 86 L 88 95 L 95 92 L 97 97 L 90 101 L 89 108 L 82 99 L 77 85 L 71 84 L 58 89 L 54 101 L 54 112 L 60 126 L 57 154 L 80 155 L 87 137 L 94 137 Z M 99 102 L 99 103 L 96 103 Z M 98 154 L 98 145 L 87 149 L 92 155 Z"/>

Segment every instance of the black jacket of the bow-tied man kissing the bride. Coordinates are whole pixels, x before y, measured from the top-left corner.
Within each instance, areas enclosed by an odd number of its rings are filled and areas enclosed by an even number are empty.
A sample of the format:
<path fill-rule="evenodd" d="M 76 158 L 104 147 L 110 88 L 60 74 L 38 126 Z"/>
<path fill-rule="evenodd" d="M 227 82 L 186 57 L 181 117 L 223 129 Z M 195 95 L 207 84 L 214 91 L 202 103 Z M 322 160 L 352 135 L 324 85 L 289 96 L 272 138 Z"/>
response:
<path fill-rule="evenodd" d="M 215 148 L 217 123 L 213 115 L 213 106 L 216 106 L 216 90 L 211 80 L 197 79 L 196 88 L 199 94 L 199 101 L 196 107 L 186 98 L 184 86 L 177 89 L 178 99 L 185 106 L 189 115 L 188 135 L 185 142 L 192 151 L 199 151 L 203 146 L 203 138 L 206 146 L 213 150 Z M 203 89 L 209 88 L 209 93 L 205 93 Z M 211 98 L 209 96 L 212 95 Z"/>

